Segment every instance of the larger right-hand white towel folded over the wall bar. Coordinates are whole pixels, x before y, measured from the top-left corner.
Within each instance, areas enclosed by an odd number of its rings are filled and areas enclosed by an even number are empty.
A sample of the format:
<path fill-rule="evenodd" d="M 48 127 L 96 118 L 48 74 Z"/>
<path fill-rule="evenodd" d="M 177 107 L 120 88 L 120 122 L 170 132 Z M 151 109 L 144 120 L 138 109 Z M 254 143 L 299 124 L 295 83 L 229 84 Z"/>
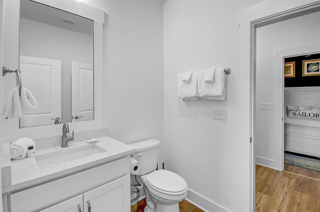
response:
<path fill-rule="evenodd" d="M 215 68 L 212 82 L 205 81 L 205 71 L 198 71 L 197 92 L 200 98 L 224 99 L 225 74 L 223 68 Z"/>

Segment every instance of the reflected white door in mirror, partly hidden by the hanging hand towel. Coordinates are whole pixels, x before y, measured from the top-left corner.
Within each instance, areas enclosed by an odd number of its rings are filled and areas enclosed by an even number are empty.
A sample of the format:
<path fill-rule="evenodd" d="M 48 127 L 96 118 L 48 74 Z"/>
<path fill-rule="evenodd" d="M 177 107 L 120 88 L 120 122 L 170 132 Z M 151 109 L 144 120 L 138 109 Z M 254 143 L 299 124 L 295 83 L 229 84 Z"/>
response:
<path fill-rule="evenodd" d="M 22 86 L 38 102 L 38 108 L 22 115 L 20 127 L 53 124 L 51 118 L 61 118 L 61 61 L 20 55 L 20 70 Z"/>

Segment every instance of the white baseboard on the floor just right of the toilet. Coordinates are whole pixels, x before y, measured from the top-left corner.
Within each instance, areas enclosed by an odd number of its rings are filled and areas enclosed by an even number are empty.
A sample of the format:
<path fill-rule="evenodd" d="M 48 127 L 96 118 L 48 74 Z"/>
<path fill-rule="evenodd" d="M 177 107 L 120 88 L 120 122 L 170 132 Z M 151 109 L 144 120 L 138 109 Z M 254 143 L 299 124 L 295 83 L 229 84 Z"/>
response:
<path fill-rule="evenodd" d="M 202 196 L 201 194 L 188 189 L 187 191 L 187 195 L 185 198 L 188 202 L 190 202 L 191 204 L 194 204 L 195 206 L 197 206 L 198 208 L 200 208 L 201 210 L 205 211 L 205 212 L 230 212 L 230 210 L 228 210 L 227 208 L 215 203 L 214 201 L 206 198 L 205 196 Z"/>

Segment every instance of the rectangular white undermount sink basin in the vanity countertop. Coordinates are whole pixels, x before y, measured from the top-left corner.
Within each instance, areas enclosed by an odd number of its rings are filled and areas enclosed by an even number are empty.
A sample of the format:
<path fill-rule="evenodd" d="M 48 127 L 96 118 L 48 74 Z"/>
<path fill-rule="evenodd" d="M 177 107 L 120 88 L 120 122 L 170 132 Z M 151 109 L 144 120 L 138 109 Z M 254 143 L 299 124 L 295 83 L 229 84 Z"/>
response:
<path fill-rule="evenodd" d="M 35 160 L 40 168 L 46 168 L 63 162 L 98 154 L 103 151 L 105 150 L 94 144 L 86 144 L 77 147 L 61 148 L 59 151 L 36 155 Z"/>

